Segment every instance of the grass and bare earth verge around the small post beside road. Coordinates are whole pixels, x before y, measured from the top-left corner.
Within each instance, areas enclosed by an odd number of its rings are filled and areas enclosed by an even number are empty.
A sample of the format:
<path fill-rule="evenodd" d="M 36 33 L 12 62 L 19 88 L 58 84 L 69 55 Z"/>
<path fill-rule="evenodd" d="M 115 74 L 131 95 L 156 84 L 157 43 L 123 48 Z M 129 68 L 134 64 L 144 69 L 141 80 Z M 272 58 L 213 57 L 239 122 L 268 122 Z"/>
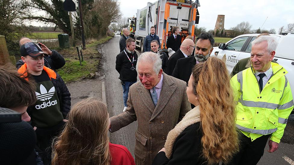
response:
<path fill-rule="evenodd" d="M 60 50 L 59 53 L 65 58 L 65 65 L 61 69 L 58 69 L 57 72 L 64 82 L 69 83 L 89 78 L 90 73 L 95 74 L 95 72 L 99 71 L 102 54 L 98 52 L 97 45 L 103 44 L 111 38 L 107 36 L 99 40 L 88 40 L 86 49 L 82 50 L 84 59 L 82 66 L 80 66 L 76 47 Z"/>

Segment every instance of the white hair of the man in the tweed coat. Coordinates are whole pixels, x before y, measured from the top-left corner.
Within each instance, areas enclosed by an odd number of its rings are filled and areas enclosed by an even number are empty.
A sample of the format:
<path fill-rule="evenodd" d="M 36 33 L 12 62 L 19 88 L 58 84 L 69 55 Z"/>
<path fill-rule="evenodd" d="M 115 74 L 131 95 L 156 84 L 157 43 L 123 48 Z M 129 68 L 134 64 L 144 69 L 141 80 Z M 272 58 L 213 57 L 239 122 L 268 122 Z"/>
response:
<path fill-rule="evenodd" d="M 161 65 L 162 65 L 161 58 L 158 56 L 158 54 L 153 53 L 153 52 L 144 52 L 138 57 L 137 65 L 136 65 L 137 71 L 138 71 L 139 63 L 153 64 L 153 71 L 156 74 L 159 73 L 159 71 L 161 69 Z"/>

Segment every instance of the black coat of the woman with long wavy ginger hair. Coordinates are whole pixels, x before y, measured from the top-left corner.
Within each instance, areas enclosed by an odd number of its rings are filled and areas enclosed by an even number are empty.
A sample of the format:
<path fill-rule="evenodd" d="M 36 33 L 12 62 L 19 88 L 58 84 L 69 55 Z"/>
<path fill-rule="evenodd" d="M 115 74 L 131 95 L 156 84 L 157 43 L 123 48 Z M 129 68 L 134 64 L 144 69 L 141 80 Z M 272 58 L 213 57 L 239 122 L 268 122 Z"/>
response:
<path fill-rule="evenodd" d="M 176 138 L 170 159 L 165 152 L 159 152 L 152 165 L 186 165 L 207 164 L 201 157 L 202 154 L 202 128 L 200 122 L 190 125 Z"/>

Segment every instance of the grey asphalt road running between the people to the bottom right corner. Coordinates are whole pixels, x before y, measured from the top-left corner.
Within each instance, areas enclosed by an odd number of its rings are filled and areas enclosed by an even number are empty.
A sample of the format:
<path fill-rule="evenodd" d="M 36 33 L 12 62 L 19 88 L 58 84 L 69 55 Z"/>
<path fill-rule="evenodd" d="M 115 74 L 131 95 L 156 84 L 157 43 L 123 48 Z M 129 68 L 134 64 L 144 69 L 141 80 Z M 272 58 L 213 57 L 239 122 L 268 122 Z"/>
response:
<path fill-rule="evenodd" d="M 109 115 L 114 116 L 120 114 L 124 109 L 123 90 L 119 74 L 115 70 L 115 57 L 119 53 L 119 35 L 115 35 L 108 43 L 103 45 L 105 56 L 105 87 L 106 99 L 109 107 Z M 138 52 L 137 52 L 138 53 Z M 140 55 L 140 53 L 138 53 Z M 294 91 L 293 91 L 294 92 Z M 135 148 L 135 132 L 137 129 L 137 122 L 133 122 L 120 129 L 115 133 L 111 133 L 111 143 L 126 146 L 134 157 Z M 258 162 L 258 165 L 294 165 L 294 115 L 290 115 L 284 136 L 279 144 L 279 148 L 274 153 L 268 153 L 268 145 L 264 150 L 264 156 Z M 246 160 L 244 160 L 246 161 Z"/>

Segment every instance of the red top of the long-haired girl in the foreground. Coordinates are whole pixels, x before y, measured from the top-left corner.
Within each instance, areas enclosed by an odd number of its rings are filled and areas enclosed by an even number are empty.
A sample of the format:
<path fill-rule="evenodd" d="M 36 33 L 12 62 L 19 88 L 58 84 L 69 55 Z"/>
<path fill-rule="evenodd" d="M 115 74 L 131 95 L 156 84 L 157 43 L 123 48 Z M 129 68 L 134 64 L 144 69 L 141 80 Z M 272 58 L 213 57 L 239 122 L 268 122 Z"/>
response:
<path fill-rule="evenodd" d="M 130 151 L 123 145 L 109 143 L 111 165 L 136 165 Z"/>

